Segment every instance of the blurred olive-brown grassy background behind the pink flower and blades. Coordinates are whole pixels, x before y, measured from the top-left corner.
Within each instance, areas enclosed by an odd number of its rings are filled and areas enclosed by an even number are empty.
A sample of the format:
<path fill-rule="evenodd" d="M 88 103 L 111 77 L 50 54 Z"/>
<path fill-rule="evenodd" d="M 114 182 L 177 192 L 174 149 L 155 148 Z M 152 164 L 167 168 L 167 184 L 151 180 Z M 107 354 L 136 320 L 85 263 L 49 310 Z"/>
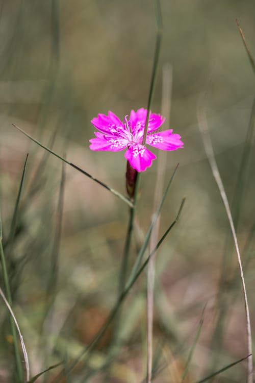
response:
<path fill-rule="evenodd" d="M 255 52 L 255 9 L 252 0 L 162 0 L 161 7 L 164 32 L 151 110 L 161 112 L 162 68 L 171 65 L 169 125 L 182 135 L 184 149 L 167 153 L 165 180 L 176 163 L 180 167 L 164 205 L 160 234 L 175 218 L 183 196 L 187 200 L 180 222 L 157 256 L 155 381 L 181 381 L 206 305 L 186 376 L 186 381 L 193 382 L 247 355 L 237 258 L 203 149 L 197 104 L 206 91 L 210 134 L 231 202 L 244 148 L 247 152 L 245 137 L 254 95 L 254 75 L 235 19 Z M 33 375 L 49 365 L 72 360 L 109 314 L 117 297 L 128 209 L 68 166 L 61 187 L 61 161 L 45 156 L 12 123 L 125 193 L 123 153 L 90 151 L 88 141 L 94 135 L 90 120 L 108 110 L 122 119 L 131 109 L 146 108 L 156 41 L 154 3 L 2 1 L 0 37 L 0 208 L 14 309 Z M 237 232 L 254 332 L 253 152 L 243 169 L 247 177 L 239 179 L 244 188 L 237 204 Z M 10 235 L 27 153 L 16 230 Z M 154 161 L 142 174 L 137 210 L 140 229 L 132 261 L 153 213 L 157 169 Z M 110 329 L 89 361 L 81 363 L 66 381 L 144 379 L 145 274 L 124 306 L 118 355 L 107 368 L 101 368 L 111 344 Z M 45 314 L 54 276 L 54 310 Z M 12 376 L 12 340 L 6 309 L 1 305 L 0 381 L 6 382 Z M 44 381 L 52 381 L 56 371 Z M 243 362 L 215 381 L 245 379 Z"/>

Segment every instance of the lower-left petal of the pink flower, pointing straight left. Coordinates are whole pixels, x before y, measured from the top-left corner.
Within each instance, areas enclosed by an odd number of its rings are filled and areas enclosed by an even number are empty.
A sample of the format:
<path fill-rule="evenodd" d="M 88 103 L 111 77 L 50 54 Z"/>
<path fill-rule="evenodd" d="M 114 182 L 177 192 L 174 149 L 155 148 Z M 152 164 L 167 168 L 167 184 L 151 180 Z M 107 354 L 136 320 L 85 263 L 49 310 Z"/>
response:
<path fill-rule="evenodd" d="M 102 133 L 95 132 L 96 138 L 91 138 L 89 148 L 91 150 L 109 150 L 111 152 L 118 152 L 125 149 L 129 144 L 124 138 L 118 138 L 115 136 L 106 136 Z"/>

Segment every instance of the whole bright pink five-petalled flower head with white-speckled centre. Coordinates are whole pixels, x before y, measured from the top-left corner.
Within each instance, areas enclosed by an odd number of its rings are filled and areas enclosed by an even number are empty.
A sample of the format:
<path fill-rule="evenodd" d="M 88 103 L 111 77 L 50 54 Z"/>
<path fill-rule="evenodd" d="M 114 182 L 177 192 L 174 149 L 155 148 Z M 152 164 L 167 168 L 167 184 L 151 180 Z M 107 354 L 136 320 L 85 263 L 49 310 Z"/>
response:
<path fill-rule="evenodd" d="M 157 158 L 154 153 L 142 145 L 146 116 L 146 109 L 141 108 L 137 112 L 131 110 L 129 119 L 126 116 L 122 123 L 111 111 L 108 112 L 108 116 L 98 114 L 98 117 L 91 120 L 99 132 L 95 132 L 96 138 L 90 140 L 90 149 L 117 152 L 127 148 L 125 158 L 134 169 L 143 172 L 151 166 L 152 160 Z M 164 121 L 165 118 L 160 114 L 150 112 L 146 143 L 163 150 L 183 148 L 181 136 L 173 134 L 172 129 L 152 133 L 157 131 Z"/>

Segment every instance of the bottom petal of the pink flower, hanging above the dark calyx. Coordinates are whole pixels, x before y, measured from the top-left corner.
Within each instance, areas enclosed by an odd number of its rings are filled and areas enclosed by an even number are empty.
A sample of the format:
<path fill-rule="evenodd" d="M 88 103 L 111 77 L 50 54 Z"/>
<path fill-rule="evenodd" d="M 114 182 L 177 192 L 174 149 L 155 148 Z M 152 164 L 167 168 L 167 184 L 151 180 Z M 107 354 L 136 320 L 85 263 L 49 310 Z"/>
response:
<path fill-rule="evenodd" d="M 155 154 L 139 143 L 130 146 L 124 156 L 138 172 L 143 172 L 147 167 L 151 166 L 152 160 L 157 158 Z"/>

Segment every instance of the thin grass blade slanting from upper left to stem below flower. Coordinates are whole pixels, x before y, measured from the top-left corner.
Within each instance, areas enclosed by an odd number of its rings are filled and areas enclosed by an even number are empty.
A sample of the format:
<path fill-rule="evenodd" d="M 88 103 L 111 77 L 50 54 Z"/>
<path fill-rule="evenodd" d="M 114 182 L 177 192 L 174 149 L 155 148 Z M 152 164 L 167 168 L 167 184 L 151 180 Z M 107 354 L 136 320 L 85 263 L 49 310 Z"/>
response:
<path fill-rule="evenodd" d="M 18 129 L 22 134 L 24 134 L 25 136 L 27 136 L 29 139 L 31 139 L 32 141 L 34 141 L 35 143 L 37 143 L 37 145 L 39 145 L 41 148 L 47 150 L 49 153 L 53 154 L 55 157 L 61 159 L 62 161 L 64 161 L 65 163 L 67 163 L 68 165 L 70 165 L 71 167 L 73 167 L 74 169 L 78 170 L 78 172 L 84 174 L 85 176 L 89 177 L 90 179 L 92 179 L 93 181 L 95 181 L 96 183 L 98 183 L 99 185 L 103 186 L 104 188 L 106 188 L 107 190 L 109 190 L 109 192 L 111 192 L 112 194 L 114 194 L 115 196 L 117 196 L 118 198 L 120 198 L 122 201 L 124 201 L 127 205 L 129 205 L 130 207 L 133 207 L 133 203 L 130 201 L 130 199 L 126 198 L 125 196 L 123 196 L 121 193 L 117 192 L 115 189 L 113 189 L 112 187 L 108 186 L 107 184 L 105 184 L 104 182 L 101 182 L 99 181 L 98 179 L 94 178 L 93 176 L 91 176 L 89 173 L 85 172 L 85 170 L 81 169 L 81 167 L 75 165 L 74 163 L 72 162 L 69 162 L 67 161 L 67 159 L 63 158 L 62 156 L 60 156 L 59 154 L 57 154 L 56 152 L 54 152 L 53 150 L 47 148 L 46 146 L 44 146 L 41 142 L 39 142 L 37 139 L 33 138 L 30 134 L 26 133 L 24 130 L 22 130 L 21 128 L 19 128 L 16 124 L 12 124 L 14 126 L 14 128 Z"/>

